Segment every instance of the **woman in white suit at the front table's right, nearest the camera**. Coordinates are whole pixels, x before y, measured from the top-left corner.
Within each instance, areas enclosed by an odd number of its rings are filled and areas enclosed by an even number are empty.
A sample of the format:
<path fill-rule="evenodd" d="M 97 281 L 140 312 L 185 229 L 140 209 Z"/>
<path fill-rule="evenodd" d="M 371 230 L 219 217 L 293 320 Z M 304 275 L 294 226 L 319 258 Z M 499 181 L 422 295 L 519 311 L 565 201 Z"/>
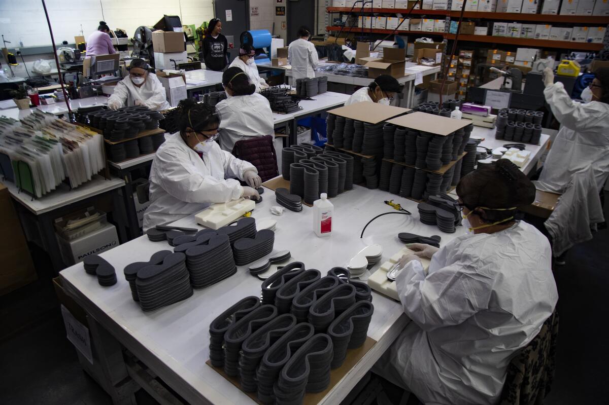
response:
<path fill-rule="evenodd" d="M 373 367 L 424 404 L 496 404 L 509 362 L 540 332 L 558 293 L 550 244 L 513 219 L 535 187 L 507 159 L 457 185 L 468 234 L 416 252 L 395 280 L 412 322 Z M 428 273 L 419 257 L 431 258 Z"/>

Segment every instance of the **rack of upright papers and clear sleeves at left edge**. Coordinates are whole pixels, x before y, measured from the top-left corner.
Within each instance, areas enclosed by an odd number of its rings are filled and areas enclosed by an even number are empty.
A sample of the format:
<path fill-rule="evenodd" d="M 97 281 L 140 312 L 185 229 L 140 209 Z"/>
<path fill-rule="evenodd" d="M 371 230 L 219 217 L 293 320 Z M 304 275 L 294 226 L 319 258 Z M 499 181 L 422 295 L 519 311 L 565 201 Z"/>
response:
<path fill-rule="evenodd" d="M 0 117 L 0 174 L 20 192 L 40 198 L 64 181 L 74 189 L 105 168 L 101 134 L 41 111 Z"/>

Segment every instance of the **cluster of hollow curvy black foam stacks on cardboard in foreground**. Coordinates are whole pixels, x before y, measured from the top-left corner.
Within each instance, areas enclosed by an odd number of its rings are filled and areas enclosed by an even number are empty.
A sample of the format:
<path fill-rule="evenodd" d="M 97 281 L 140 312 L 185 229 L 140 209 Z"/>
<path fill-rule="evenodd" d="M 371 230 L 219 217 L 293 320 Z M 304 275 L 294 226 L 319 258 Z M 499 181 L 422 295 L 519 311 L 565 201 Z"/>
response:
<path fill-rule="evenodd" d="M 306 392 L 326 389 L 347 349 L 364 344 L 374 311 L 370 288 L 352 282 L 347 269 L 320 278 L 301 262 L 265 280 L 261 297 L 211 322 L 209 358 L 263 404 L 298 404 Z"/>

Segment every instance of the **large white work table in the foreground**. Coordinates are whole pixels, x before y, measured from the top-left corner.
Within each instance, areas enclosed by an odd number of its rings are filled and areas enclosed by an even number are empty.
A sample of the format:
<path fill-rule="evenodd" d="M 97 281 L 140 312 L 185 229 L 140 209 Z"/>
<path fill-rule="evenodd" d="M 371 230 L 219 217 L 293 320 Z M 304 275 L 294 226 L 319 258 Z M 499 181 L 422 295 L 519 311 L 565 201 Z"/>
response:
<path fill-rule="evenodd" d="M 284 210 L 282 216 L 273 216 L 269 212 L 269 207 L 276 205 L 273 192 L 265 189 L 262 197 L 264 201 L 256 206 L 252 216 L 277 220 L 274 249 L 289 249 L 292 257 L 303 261 L 306 268 L 319 269 L 323 275 L 334 266 L 347 265 L 350 258 L 368 244 L 379 243 L 384 247 L 382 263 L 404 246 L 397 238 L 399 232 L 441 235 L 442 244 L 463 232 L 460 227 L 456 234 L 443 234 L 435 226 L 420 223 L 416 202 L 356 185 L 353 190 L 331 199 L 333 234 L 318 238 L 312 232 L 311 208 L 305 206 L 299 213 Z M 413 215 L 382 216 L 368 226 L 364 238 L 360 239 L 369 220 L 379 213 L 393 211 L 383 203 L 385 199 L 395 199 Z M 194 216 L 175 224 L 199 227 L 194 223 Z M 82 263 L 60 273 L 63 285 L 97 322 L 188 403 L 254 404 L 205 362 L 209 354 L 211 320 L 239 299 L 259 296 L 262 281 L 250 275 L 246 267 L 239 268 L 229 279 L 195 290 L 194 296 L 184 301 L 144 313 L 132 299 L 123 269 L 134 261 L 147 261 L 150 255 L 163 249 L 171 246 L 166 242 L 151 242 L 146 237 L 137 238 L 100 255 L 116 269 L 116 285 L 101 287 L 95 277 L 85 273 Z M 376 268 L 378 266 L 373 270 Z M 368 336 L 377 343 L 320 403 L 340 403 L 409 322 L 400 303 L 392 299 L 373 292 L 373 305 L 375 313 Z"/>

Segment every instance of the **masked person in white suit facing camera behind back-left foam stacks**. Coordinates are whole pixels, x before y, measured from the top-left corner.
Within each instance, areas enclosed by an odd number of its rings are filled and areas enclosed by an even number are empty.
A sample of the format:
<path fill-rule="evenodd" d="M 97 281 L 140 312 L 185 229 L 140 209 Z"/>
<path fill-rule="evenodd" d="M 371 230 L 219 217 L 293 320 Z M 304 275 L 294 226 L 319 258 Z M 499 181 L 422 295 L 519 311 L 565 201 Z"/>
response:
<path fill-rule="evenodd" d="M 114 93 L 108 99 L 108 108 L 133 105 L 145 105 L 155 111 L 171 108 L 167 103 L 165 88 L 157 75 L 150 73 L 150 66 L 145 60 L 132 60 L 128 69 L 129 75 L 114 86 Z"/>

